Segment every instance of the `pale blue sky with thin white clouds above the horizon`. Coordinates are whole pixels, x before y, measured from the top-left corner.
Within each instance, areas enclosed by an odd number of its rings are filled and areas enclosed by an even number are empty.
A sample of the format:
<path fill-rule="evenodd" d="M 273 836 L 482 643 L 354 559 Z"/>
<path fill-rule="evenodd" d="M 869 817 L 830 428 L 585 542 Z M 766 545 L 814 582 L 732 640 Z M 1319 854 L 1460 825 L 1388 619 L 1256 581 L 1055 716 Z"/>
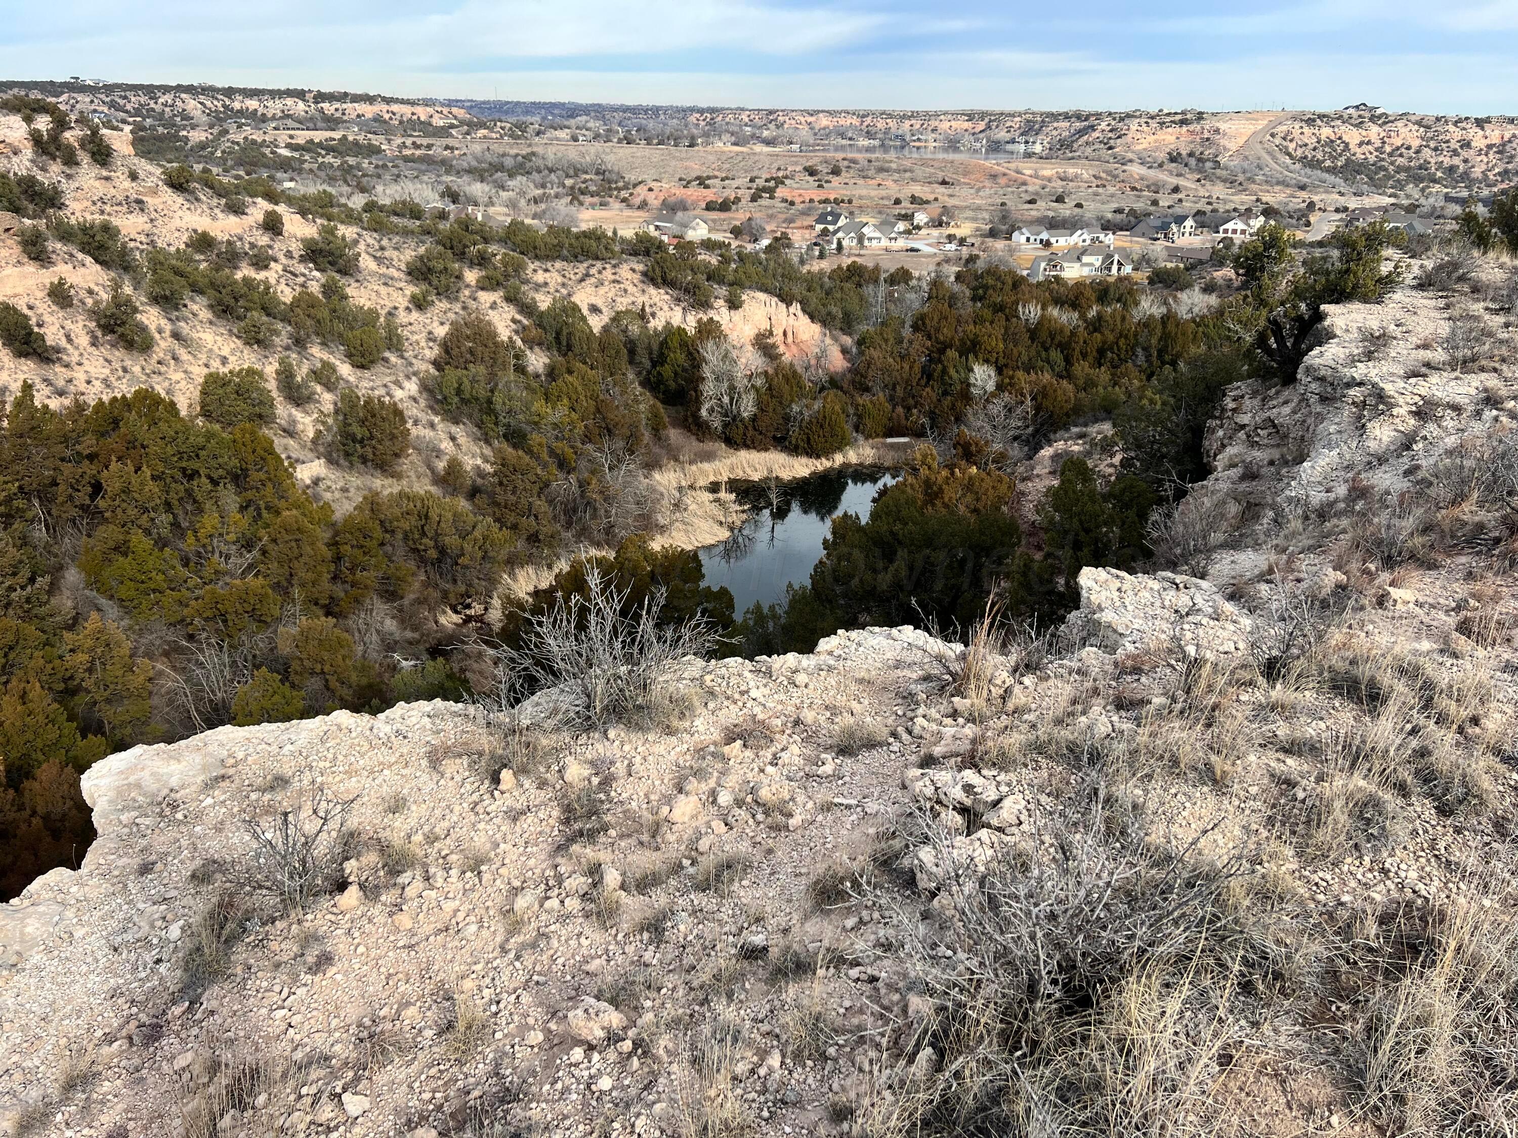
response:
<path fill-rule="evenodd" d="M 849 108 L 1518 112 L 1518 0 L 0 0 L 0 76 Z"/>

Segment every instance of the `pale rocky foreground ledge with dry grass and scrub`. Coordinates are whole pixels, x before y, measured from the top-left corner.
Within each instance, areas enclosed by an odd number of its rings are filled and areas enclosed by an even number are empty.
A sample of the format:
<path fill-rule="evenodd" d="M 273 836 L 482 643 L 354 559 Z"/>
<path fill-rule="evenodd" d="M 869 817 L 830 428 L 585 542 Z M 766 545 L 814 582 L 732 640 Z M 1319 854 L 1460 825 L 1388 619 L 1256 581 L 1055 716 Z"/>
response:
<path fill-rule="evenodd" d="M 1518 387 L 1453 334 L 1506 273 L 1328 307 L 1046 634 L 701 662 L 589 574 L 492 655 L 519 707 L 105 759 L 82 871 L 0 907 L 6 1117 L 1509 1132 Z"/>

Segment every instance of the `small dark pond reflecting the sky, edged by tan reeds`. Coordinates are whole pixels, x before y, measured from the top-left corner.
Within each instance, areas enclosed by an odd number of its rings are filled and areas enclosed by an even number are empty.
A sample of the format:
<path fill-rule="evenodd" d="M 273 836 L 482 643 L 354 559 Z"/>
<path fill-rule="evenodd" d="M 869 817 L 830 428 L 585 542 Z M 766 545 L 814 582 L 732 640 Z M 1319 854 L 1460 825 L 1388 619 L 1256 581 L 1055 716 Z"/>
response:
<path fill-rule="evenodd" d="M 853 467 L 824 470 L 795 483 L 729 483 L 727 489 L 748 517 L 732 537 L 700 551 L 706 584 L 727 586 L 733 613 L 785 599 L 788 584 L 806 584 L 823 555 L 823 539 L 838 514 L 870 516 L 880 487 L 899 475 L 890 470 Z"/>

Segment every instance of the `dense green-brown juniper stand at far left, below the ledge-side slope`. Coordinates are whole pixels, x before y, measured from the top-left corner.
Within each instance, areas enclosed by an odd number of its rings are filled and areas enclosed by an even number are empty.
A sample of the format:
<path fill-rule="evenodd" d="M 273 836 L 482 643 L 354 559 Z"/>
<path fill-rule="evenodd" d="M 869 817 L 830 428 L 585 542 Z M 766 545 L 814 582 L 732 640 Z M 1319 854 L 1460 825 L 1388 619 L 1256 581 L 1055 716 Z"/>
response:
<path fill-rule="evenodd" d="M 77 860 L 77 778 L 112 750 L 461 690 L 440 659 L 398 672 L 393 654 L 451 643 L 445 610 L 480 619 L 519 531 L 416 490 L 334 520 L 258 431 L 267 396 L 246 369 L 206 378 L 203 423 L 149 390 L 55 410 L 23 384 L 5 408 L 8 894 Z"/>

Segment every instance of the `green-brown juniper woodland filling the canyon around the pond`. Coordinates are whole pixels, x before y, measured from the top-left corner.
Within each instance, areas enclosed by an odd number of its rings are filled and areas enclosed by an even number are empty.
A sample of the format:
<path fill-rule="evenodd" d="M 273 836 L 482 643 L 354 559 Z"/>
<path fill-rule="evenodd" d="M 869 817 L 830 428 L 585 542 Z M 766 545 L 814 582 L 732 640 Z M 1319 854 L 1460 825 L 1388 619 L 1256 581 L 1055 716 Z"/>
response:
<path fill-rule="evenodd" d="M 49 161 L 68 162 L 70 137 L 96 147 L 97 126 L 71 126 L 41 103 L 20 109 L 50 117 L 32 138 Z M 88 310 L 100 351 L 147 352 L 147 307 L 196 305 L 269 357 L 267 369 L 206 373 L 194 408 L 147 390 L 55 408 L 30 384 L 6 408 L 5 831 L 27 851 L 11 862 L 11 891 L 77 857 L 88 822 L 71 787 L 102 754 L 223 722 L 466 696 L 477 640 L 519 649 L 525 615 L 572 605 L 595 574 L 622 616 L 700 616 L 724 652 L 809 649 L 864 624 L 967 625 L 993 592 L 1008 619 L 1057 619 L 1082 566 L 1131 567 L 1151 554 L 1152 511 L 1205 473 L 1201 434 L 1219 393 L 1261 369 L 1289 379 L 1324 303 L 1374 299 L 1394 279 L 1380 269 L 1389 235 L 1375 226 L 1301 264 L 1268 228 L 1239 250 L 1240 293 L 1183 314 L 1125 279 L 1034 285 L 973 258 L 953 278 L 859 264 L 820 273 L 785 241 L 669 250 L 647 234 L 495 226 L 411 200 L 351 206 L 264 174 L 173 164 L 161 178 L 232 214 L 263 202 L 254 232 L 269 241 L 288 240 L 281 211 L 317 223 L 299 256 L 320 285 L 285 296 L 241 272 L 269 262 L 261 241 L 196 231 L 179 247 L 144 247 L 109 218 L 73 217 L 47 179 L 0 176 L 0 205 L 35 222 L 27 256 L 46 256 L 52 240 L 112 275 Z M 414 244 L 405 272 L 419 294 L 448 297 L 472 275 L 516 319 L 502 328 L 465 310 L 422 364 L 437 414 L 477 431 L 493 448 L 489 464 L 454 458 L 433 472 L 440 493 L 376 490 L 337 517 L 296 484 L 264 431 L 281 402 L 335 390 L 317 429 L 329 461 L 384 473 L 407 458 L 404 411 L 342 387 L 329 358 L 357 373 L 414 358 L 393 311 L 351 299 L 367 272 L 360 231 Z M 572 300 L 539 308 L 521 288 L 533 261 L 618 258 L 695 311 L 718 303 L 718 290 L 800 303 L 855 337 L 849 366 L 795 361 L 762 334 L 733 343 L 716 320 L 656 326 L 624 310 L 597 329 Z M 68 281 L 55 285 L 49 297 L 70 308 Z M 0 307 L 0 341 L 20 361 L 58 358 L 14 305 Z M 311 361 L 304 375 L 287 352 Z M 694 554 L 644 537 L 677 508 L 648 476 L 671 417 L 698 439 L 805 457 L 896 434 L 935 446 L 868 520 L 838 519 L 808 587 L 733 613 L 726 592 L 704 587 Z M 1043 501 L 1022 501 L 1017 461 L 1104 417 L 1117 426 L 1120 467 L 1098 473 L 1070 458 Z M 492 608 L 504 571 L 583 546 L 615 554 L 575 561 L 504 616 Z"/>

